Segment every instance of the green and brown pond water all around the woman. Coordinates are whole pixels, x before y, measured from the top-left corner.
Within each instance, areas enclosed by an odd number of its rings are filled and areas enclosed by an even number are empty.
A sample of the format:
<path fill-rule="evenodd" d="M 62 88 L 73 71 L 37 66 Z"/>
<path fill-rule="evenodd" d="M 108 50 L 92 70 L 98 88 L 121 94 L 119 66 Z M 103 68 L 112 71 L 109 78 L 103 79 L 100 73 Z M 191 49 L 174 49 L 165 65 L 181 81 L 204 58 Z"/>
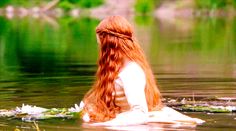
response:
<path fill-rule="evenodd" d="M 94 80 L 98 53 L 94 30 L 99 21 L 88 17 L 0 17 L 0 109 L 22 103 L 46 108 L 79 103 Z M 136 16 L 129 21 L 164 98 L 236 96 L 236 18 L 160 20 Z M 179 128 L 154 124 L 136 129 L 236 128 L 234 113 L 186 114 L 206 123 Z M 44 120 L 38 124 L 46 131 L 97 130 L 84 126 L 81 120 Z M 0 130 L 32 130 L 32 126 L 0 119 Z"/>

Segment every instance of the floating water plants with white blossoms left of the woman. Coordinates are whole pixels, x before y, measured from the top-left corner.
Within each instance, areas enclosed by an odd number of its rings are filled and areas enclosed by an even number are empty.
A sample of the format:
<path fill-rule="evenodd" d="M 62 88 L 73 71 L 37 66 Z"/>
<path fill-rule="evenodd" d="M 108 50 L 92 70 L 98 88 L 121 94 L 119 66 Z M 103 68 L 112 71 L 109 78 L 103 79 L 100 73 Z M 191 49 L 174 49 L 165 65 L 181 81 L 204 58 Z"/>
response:
<path fill-rule="evenodd" d="M 75 106 L 71 108 L 46 109 L 42 107 L 22 104 L 21 107 L 16 107 L 15 109 L 11 110 L 1 109 L 0 117 L 21 119 L 22 121 L 27 121 L 27 122 L 32 122 L 34 120 L 41 120 L 41 119 L 52 119 L 52 118 L 73 119 L 79 117 L 80 112 L 82 110 L 81 107 L 82 105 L 83 104 L 81 104 L 80 107 L 77 104 L 75 104 Z"/>

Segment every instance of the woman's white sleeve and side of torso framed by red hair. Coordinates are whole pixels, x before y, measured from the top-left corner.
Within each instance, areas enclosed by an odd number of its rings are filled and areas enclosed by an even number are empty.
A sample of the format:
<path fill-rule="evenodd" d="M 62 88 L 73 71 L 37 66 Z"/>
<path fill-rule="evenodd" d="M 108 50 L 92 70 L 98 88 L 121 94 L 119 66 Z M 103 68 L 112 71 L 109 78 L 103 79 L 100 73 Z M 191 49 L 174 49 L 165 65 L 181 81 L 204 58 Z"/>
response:
<path fill-rule="evenodd" d="M 120 111 L 128 111 L 133 108 L 147 109 L 145 96 L 146 77 L 142 68 L 135 62 L 128 61 L 115 80 L 115 104 Z"/>

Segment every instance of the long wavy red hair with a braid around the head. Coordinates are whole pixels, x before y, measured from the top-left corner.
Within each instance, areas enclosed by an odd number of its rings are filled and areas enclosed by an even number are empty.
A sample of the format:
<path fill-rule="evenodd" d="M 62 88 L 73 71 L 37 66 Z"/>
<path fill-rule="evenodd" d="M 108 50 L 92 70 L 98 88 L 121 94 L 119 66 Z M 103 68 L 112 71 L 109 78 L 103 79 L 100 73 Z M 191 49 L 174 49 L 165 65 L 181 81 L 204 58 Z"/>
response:
<path fill-rule="evenodd" d="M 119 113 L 120 107 L 114 103 L 114 81 L 124 66 L 125 60 L 139 64 L 146 75 L 145 94 L 148 110 L 162 106 L 161 94 L 155 83 L 152 70 L 143 50 L 133 36 L 129 22 L 121 16 L 110 16 L 96 28 L 100 46 L 96 81 L 84 96 L 84 113 L 92 122 L 107 121 Z"/>

